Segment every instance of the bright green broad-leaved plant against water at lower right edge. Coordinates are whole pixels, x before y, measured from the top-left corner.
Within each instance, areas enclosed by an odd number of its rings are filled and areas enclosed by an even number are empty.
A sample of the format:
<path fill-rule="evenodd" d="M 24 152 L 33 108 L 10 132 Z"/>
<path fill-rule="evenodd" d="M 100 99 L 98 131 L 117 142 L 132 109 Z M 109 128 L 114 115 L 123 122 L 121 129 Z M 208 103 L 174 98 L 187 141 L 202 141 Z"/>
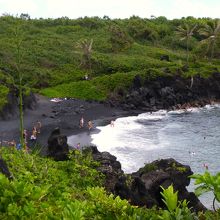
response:
<path fill-rule="evenodd" d="M 195 185 L 199 185 L 195 189 L 195 194 L 200 196 L 206 192 L 212 192 L 214 194 L 213 209 L 215 208 L 215 201 L 220 202 L 220 173 L 211 175 L 208 171 L 204 174 L 194 174 L 190 178 L 195 179 Z"/>

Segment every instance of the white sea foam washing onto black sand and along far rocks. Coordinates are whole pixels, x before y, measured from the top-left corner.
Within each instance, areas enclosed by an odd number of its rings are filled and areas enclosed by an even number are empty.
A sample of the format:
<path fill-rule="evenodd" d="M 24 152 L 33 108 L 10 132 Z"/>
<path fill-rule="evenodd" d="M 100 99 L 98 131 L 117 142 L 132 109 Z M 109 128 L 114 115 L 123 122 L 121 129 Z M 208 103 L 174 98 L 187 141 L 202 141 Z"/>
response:
<path fill-rule="evenodd" d="M 133 172 L 151 159 L 149 152 L 160 152 L 162 149 L 167 149 L 166 152 L 169 152 L 172 141 L 186 142 L 183 136 L 190 135 L 193 129 L 191 125 L 186 125 L 187 122 L 184 124 L 181 122 L 184 114 L 199 113 L 201 110 L 209 111 L 213 108 L 220 108 L 220 105 L 169 112 L 160 110 L 118 118 L 114 122 L 114 127 L 111 125 L 97 127 L 100 132 L 91 135 L 92 144 L 96 145 L 99 151 L 108 151 L 115 155 L 125 172 Z M 181 123 L 176 122 L 174 115 L 180 116 L 178 118 Z M 187 126 L 189 129 L 186 129 Z M 170 132 L 173 134 L 172 138 L 169 136 Z M 183 135 L 178 135 L 178 132 L 183 132 Z M 69 142 L 76 142 L 75 139 L 73 137 Z"/>

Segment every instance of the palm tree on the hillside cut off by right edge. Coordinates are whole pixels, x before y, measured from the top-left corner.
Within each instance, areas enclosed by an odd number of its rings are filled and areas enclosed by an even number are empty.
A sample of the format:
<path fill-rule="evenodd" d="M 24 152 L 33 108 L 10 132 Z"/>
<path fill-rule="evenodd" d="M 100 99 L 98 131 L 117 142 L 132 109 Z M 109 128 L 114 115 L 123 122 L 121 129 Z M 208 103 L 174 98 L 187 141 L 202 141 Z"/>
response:
<path fill-rule="evenodd" d="M 220 35 L 220 20 L 216 19 L 213 22 L 209 22 L 205 25 L 205 27 L 199 30 L 199 33 L 205 37 L 205 39 L 201 42 L 208 44 L 207 52 L 211 50 L 210 60 L 212 60 L 216 46 L 216 41 L 218 36 Z"/>

